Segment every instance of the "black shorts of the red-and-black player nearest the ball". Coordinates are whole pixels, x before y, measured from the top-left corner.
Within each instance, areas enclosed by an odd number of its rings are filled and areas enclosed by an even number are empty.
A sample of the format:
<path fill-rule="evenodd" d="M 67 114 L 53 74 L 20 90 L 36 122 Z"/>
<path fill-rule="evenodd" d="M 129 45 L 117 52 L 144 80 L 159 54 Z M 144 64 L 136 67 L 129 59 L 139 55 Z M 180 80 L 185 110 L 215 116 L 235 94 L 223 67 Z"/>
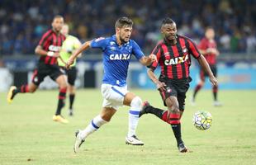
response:
<path fill-rule="evenodd" d="M 159 78 L 160 82 L 164 82 L 166 84 L 165 91 L 160 92 L 162 100 L 164 102 L 164 106 L 166 106 L 165 100 L 168 97 L 177 97 L 178 107 L 180 111 L 185 110 L 185 99 L 186 93 L 189 88 L 189 82 L 192 81 L 192 78 L 187 78 L 183 80 L 164 80 L 163 78 Z"/>

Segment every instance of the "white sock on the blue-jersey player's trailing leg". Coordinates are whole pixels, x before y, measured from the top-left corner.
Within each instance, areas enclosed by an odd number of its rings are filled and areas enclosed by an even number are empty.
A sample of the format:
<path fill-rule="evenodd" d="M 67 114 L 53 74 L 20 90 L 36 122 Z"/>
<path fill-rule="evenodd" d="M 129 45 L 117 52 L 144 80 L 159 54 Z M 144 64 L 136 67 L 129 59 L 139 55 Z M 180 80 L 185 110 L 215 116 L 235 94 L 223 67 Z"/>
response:
<path fill-rule="evenodd" d="M 82 130 L 82 138 L 85 139 L 89 134 L 92 134 L 106 123 L 106 120 L 103 120 L 100 115 L 97 115 L 94 119 L 92 119 L 91 123 L 84 130 Z"/>

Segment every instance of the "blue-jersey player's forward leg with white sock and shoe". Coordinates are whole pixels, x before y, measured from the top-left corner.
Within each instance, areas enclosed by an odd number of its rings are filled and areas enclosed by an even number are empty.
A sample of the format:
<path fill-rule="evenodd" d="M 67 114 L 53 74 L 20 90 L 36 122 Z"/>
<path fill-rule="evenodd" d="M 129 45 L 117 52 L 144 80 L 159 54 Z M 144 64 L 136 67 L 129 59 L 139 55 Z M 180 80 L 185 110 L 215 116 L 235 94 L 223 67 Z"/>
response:
<path fill-rule="evenodd" d="M 142 101 L 140 97 L 136 97 L 134 93 L 128 92 L 124 98 L 123 104 L 130 106 L 129 111 L 129 128 L 126 136 L 126 144 L 144 145 L 144 143 L 137 138 L 136 128 L 139 122 L 139 115 L 142 108 Z"/>

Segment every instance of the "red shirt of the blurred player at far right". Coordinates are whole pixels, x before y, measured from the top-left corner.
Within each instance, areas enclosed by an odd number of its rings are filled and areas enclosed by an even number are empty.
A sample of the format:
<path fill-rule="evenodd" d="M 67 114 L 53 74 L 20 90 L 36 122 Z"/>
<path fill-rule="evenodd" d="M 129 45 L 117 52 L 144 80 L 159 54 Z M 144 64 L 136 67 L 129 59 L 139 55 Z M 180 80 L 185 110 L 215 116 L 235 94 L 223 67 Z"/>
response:
<path fill-rule="evenodd" d="M 217 49 L 216 41 L 215 40 L 207 40 L 206 38 L 201 39 L 198 49 L 199 50 L 207 50 L 209 48 Z M 216 54 L 204 54 L 206 61 L 210 65 L 216 65 Z"/>

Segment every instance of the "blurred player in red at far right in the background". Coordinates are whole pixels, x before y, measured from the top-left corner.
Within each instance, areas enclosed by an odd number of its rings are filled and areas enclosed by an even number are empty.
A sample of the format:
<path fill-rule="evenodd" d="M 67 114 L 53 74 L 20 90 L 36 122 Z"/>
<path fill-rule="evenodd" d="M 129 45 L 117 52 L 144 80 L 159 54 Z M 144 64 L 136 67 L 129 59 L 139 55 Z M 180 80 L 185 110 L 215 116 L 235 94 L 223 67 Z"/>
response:
<path fill-rule="evenodd" d="M 205 32 L 205 37 L 201 39 L 200 44 L 198 45 L 198 49 L 201 54 L 206 58 L 206 61 L 210 65 L 211 71 L 213 75 L 217 76 L 217 66 L 216 66 L 216 57 L 220 54 L 217 50 L 216 40 L 214 40 L 215 31 L 212 27 L 207 27 Z M 198 82 L 197 86 L 194 89 L 193 97 L 192 97 L 192 105 L 195 105 L 197 92 L 204 86 L 206 82 L 207 73 L 203 68 L 200 68 L 200 82 Z M 218 85 L 212 86 L 212 93 L 214 97 L 214 106 L 221 106 L 221 103 L 217 99 Z"/>

